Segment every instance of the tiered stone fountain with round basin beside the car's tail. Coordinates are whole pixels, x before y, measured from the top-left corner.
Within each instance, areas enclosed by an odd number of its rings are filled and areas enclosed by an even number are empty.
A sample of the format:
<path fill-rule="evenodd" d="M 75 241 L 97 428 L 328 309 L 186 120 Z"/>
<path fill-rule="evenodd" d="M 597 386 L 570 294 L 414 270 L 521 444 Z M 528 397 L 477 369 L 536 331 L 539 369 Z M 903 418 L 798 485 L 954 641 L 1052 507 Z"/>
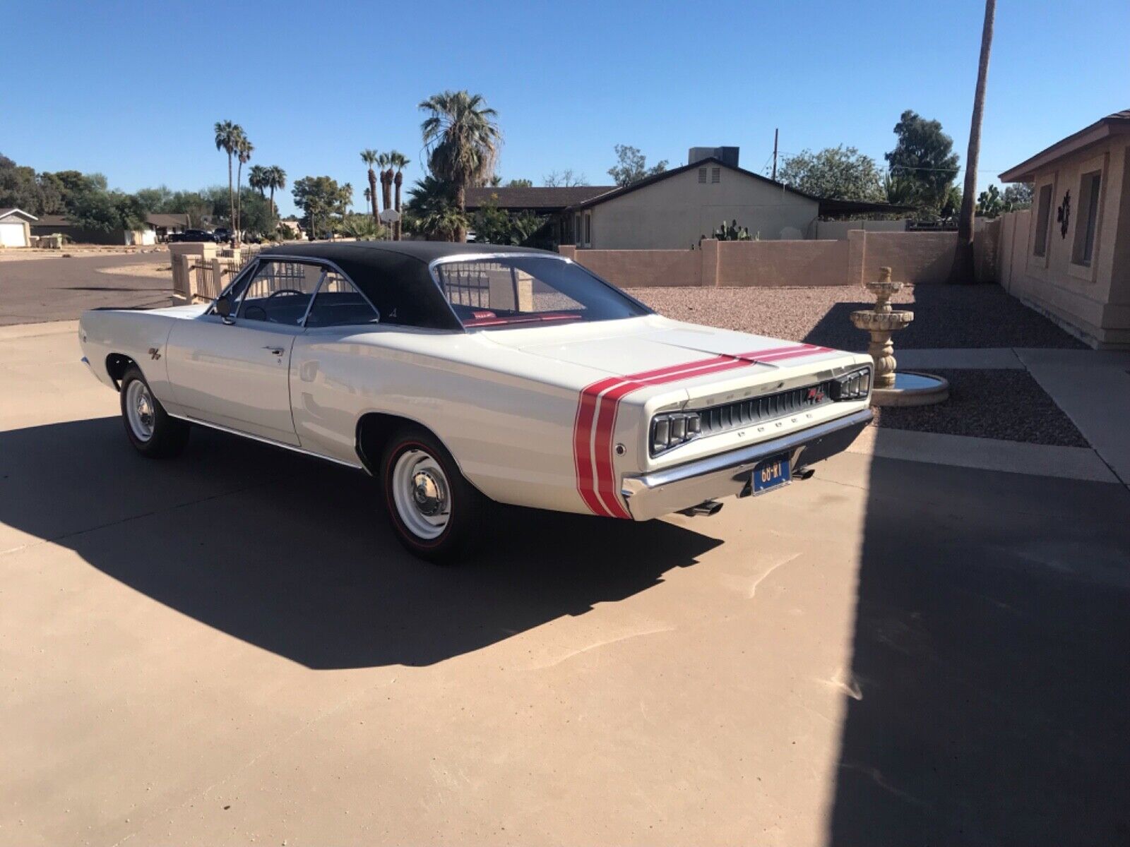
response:
<path fill-rule="evenodd" d="M 876 282 L 864 282 L 875 295 L 875 308 L 851 313 L 857 329 L 870 333 L 867 351 L 875 361 L 871 405 L 929 405 L 949 396 L 949 383 L 940 376 L 912 370 L 895 370 L 895 344 L 892 335 L 914 320 L 914 313 L 892 309 L 890 298 L 902 289 L 902 282 L 890 280 L 890 269 L 880 268 Z"/>

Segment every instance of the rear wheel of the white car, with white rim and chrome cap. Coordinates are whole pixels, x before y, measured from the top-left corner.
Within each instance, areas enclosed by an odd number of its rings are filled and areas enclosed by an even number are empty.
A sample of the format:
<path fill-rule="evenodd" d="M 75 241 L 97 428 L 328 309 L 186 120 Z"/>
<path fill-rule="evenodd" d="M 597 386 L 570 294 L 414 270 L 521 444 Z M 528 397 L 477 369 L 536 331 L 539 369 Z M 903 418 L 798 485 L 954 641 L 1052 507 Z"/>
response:
<path fill-rule="evenodd" d="M 463 478 L 447 449 L 427 430 L 405 427 L 389 440 L 381 466 L 400 543 L 429 561 L 458 560 L 481 530 L 487 499 Z"/>

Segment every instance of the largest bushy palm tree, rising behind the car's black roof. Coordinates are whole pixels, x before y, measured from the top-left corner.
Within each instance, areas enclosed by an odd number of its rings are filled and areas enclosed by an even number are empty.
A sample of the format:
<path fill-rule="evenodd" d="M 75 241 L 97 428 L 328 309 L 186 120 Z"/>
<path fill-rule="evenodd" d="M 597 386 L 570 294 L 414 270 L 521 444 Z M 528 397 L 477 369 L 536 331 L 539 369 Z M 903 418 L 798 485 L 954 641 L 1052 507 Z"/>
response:
<path fill-rule="evenodd" d="M 420 124 L 428 168 L 454 186 L 455 203 L 466 215 L 468 186 L 486 180 L 495 169 L 502 146 L 497 113 L 487 107 L 481 95 L 467 91 L 443 91 L 419 107 L 431 113 Z M 467 241 L 466 226 L 459 227 L 455 239 Z"/>

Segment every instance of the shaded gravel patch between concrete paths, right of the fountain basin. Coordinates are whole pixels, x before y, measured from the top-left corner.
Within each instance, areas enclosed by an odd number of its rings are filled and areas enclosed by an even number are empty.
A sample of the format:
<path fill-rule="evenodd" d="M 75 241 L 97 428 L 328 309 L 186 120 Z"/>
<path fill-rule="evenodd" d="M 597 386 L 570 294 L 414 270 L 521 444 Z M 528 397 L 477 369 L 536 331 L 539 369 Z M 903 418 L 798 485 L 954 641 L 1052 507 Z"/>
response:
<path fill-rule="evenodd" d="M 949 400 L 937 405 L 876 407 L 872 426 L 1064 447 L 1090 446 L 1027 370 L 931 368 L 930 373 L 949 381 Z"/>

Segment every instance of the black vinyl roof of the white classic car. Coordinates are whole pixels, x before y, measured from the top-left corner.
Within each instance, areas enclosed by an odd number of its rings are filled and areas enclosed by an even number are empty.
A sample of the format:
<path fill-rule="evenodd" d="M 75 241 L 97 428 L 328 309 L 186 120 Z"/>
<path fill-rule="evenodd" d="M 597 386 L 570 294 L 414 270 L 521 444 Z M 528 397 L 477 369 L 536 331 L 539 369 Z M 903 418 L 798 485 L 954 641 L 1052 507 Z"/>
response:
<path fill-rule="evenodd" d="M 481 253 L 545 253 L 546 250 L 452 242 L 313 242 L 268 247 L 260 260 L 287 257 L 333 262 L 381 313 L 382 323 L 462 330 L 447 298 L 432 279 L 428 263 L 446 256 Z"/>

